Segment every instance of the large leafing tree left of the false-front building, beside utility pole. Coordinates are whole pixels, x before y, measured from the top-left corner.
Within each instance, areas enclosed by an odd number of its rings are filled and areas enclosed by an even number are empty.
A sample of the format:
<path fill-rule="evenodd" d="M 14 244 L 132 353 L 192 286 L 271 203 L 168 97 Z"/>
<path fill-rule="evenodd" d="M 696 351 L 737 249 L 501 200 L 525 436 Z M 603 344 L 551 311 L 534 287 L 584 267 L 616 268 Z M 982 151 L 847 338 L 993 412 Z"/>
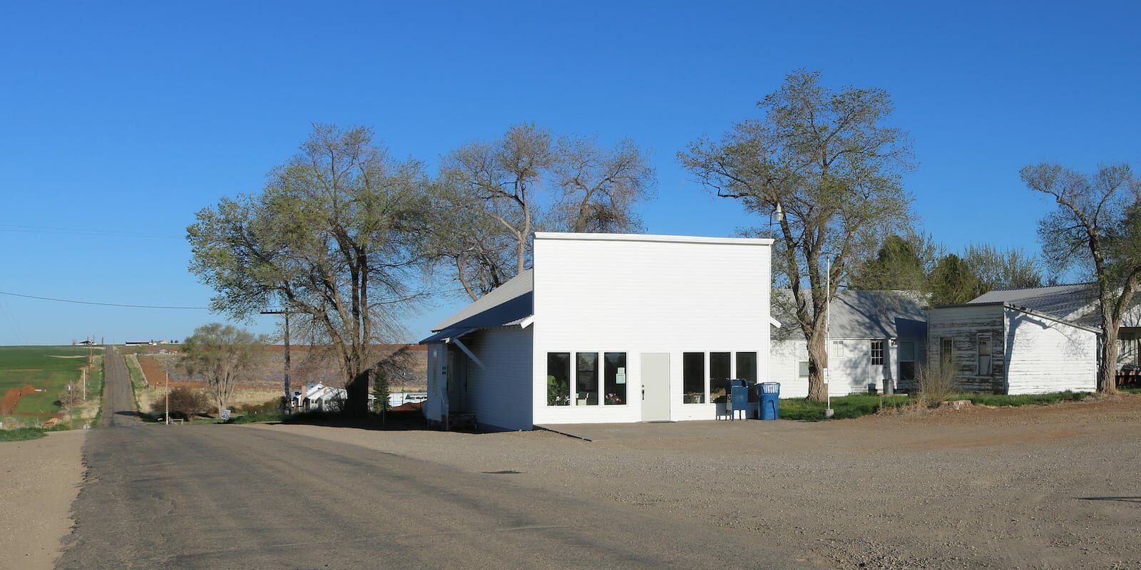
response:
<path fill-rule="evenodd" d="M 218 292 L 216 310 L 246 317 L 280 302 L 308 316 L 337 352 L 346 412 L 365 414 L 377 345 L 418 296 L 427 177 L 369 129 L 316 125 L 268 178 L 260 194 L 197 213 L 191 270 Z"/>

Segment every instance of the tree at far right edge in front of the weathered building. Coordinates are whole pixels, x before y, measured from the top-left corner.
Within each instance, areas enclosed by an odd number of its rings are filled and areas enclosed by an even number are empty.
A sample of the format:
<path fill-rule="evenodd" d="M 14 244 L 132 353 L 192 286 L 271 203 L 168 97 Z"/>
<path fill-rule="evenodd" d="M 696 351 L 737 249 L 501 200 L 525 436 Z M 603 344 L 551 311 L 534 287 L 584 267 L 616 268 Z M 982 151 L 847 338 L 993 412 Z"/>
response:
<path fill-rule="evenodd" d="M 1115 392 L 1118 332 L 1141 286 L 1141 180 L 1127 164 L 1085 174 L 1041 163 L 1022 168 L 1021 177 L 1057 204 L 1038 222 L 1046 261 L 1060 271 L 1076 266 L 1094 283 L 1102 331 L 1098 391 Z"/>

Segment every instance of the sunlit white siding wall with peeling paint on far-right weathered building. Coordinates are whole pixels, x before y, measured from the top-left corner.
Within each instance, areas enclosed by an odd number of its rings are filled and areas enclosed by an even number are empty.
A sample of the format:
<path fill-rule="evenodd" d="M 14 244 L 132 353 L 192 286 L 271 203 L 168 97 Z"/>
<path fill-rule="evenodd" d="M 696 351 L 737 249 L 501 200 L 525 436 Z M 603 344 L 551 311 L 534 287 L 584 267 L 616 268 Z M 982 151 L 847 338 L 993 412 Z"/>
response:
<path fill-rule="evenodd" d="M 1097 334 L 1012 309 L 1005 317 L 1008 393 L 1097 389 Z"/>

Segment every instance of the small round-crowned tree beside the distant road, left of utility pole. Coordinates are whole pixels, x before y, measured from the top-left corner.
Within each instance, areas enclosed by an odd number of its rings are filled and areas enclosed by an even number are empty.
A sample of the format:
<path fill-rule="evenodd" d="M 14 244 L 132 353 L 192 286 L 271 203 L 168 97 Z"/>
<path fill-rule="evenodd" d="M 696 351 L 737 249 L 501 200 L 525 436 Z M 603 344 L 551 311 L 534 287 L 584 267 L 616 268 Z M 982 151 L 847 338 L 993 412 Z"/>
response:
<path fill-rule="evenodd" d="M 211 323 L 195 328 L 194 334 L 183 341 L 179 365 L 191 376 L 207 383 L 221 417 L 221 410 L 234 396 L 237 381 L 261 364 L 264 345 L 264 340 L 249 331 Z"/>

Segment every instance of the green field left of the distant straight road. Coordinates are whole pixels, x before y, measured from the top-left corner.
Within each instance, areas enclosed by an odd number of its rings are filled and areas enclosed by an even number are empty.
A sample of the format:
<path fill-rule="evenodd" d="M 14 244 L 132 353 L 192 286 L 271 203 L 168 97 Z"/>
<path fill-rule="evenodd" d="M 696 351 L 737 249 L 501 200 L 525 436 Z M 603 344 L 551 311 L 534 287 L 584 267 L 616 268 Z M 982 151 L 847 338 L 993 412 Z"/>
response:
<path fill-rule="evenodd" d="M 96 355 L 102 352 L 96 349 Z M 0 347 L 0 396 L 31 384 L 43 391 L 22 397 L 16 414 L 56 414 L 59 393 L 80 380 L 87 355 L 87 347 Z M 96 384 L 88 382 L 88 398 L 98 389 Z"/>

